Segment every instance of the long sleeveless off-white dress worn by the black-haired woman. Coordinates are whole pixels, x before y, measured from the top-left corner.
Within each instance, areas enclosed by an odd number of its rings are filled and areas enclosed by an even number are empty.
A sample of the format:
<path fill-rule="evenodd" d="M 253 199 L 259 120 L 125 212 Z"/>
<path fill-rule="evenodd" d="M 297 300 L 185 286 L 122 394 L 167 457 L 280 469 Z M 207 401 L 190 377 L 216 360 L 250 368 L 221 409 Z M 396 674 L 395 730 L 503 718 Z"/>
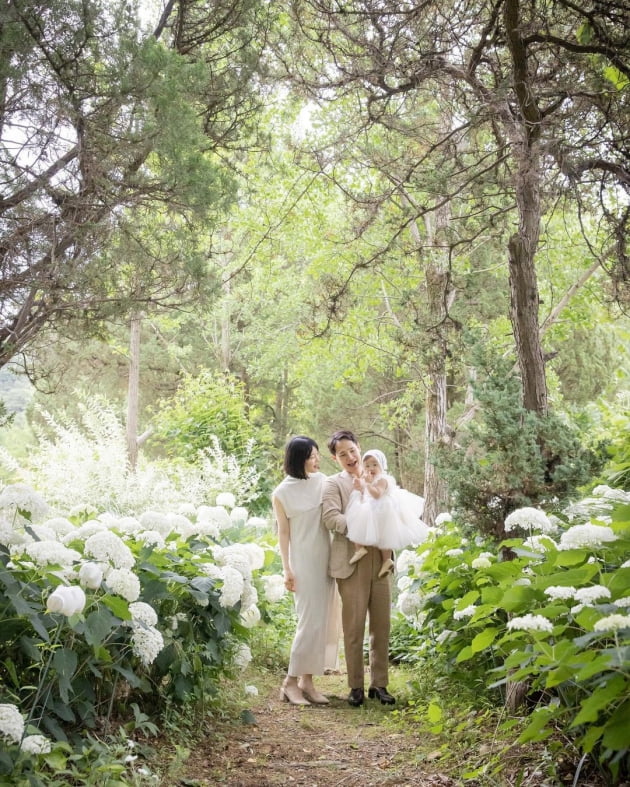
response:
<path fill-rule="evenodd" d="M 289 564 L 295 575 L 297 627 L 289 675 L 323 675 L 338 668 L 340 614 L 335 580 L 328 576 L 330 533 L 321 521 L 326 476 L 286 476 L 274 489 L 289 520 Z"/>

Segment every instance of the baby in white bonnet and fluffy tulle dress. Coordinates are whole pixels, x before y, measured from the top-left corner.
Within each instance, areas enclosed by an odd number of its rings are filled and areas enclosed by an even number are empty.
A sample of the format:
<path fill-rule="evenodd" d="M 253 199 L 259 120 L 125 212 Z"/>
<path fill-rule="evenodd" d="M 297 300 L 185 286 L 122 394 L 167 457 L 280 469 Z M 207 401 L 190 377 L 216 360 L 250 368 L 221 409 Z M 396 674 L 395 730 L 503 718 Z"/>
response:
<path fill-rule="evenodd" d="M 354 480 L 346 510 L 348 538 L 356 545 L 350 563 L 367 554 L 366 546 L 381 550 L 379 577 L 394 568 L 394 549 L 421 544 L 427 526 L 421 520 L 424 499 L 401 489 L 387 474 L 387 459 L 378 449 L 363 454 L 364 477 Z"/>

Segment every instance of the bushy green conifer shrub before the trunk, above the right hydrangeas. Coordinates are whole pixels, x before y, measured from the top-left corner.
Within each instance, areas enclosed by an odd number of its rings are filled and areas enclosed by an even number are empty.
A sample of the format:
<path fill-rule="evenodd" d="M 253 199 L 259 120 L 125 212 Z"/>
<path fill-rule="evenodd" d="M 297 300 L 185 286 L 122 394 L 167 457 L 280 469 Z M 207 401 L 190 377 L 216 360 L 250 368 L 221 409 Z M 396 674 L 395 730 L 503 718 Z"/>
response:
<path fill-rule="evenodd" d="M 525 410 L 512 362 L 473 347 L 479 409 L 456 446 L 436 449 L 454 510 L 482 533 L 501 537 L 516 508 L 567 501 L 601 466 L 567 417 Z"/>

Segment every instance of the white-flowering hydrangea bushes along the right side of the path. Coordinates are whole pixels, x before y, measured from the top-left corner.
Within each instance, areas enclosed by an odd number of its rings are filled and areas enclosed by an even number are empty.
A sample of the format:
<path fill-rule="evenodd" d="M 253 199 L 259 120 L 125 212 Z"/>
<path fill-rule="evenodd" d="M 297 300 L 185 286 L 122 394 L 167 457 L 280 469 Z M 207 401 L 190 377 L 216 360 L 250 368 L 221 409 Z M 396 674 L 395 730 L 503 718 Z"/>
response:
<path fill-rule="evenodd" d="M 598 487 L 560 517 L 533 511 L 514 512 L 531 529 L 498 552 L 447 522 L 420 555 L 403 553 L 399 606 L 451 679 L 527 687 L 535 710 L 519 743 L 559 730 L 613 778 L 627 776 L 630 498 Z"/>

